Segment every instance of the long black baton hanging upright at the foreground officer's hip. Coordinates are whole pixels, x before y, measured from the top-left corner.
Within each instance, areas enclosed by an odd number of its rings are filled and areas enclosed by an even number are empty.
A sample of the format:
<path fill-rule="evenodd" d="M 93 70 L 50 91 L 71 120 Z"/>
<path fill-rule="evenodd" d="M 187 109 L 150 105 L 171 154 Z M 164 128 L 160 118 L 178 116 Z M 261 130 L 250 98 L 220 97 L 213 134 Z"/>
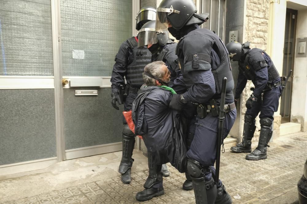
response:
<path fill-rule="evenodd" d="M 219 133 L 217 138 L 217 147 L 216 147 L 216 183 L 219 182 L 219 174 L 220 174 L 220 157 L 221 157 L 221 143 L 223 137 L 223 126 L 224 126 L 224 119 L 225 119 L 225 97 L 226 97 L 226 82 L 227 78 L 223 78 L 222 83 L 222 94 L 221 94 L 221 103 L 220 103 L 220 114 L 219 114 Z"/>

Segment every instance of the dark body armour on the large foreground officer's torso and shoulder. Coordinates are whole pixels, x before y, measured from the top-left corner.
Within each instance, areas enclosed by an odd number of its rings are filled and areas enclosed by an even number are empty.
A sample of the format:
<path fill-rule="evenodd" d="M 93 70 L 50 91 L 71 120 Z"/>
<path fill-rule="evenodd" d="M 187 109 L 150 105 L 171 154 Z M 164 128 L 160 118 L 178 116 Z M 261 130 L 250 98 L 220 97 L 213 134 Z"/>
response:
<path fill-rule="evenodd" d="M 182 53 L 182 41 L 187 37 L 191 37 L 192 35 L 201 35 L 204 38 L 209 38 L 211 40 L 207 40 L 208 44 L 199 44 L 198 40 L 193 40 L 194 43 L 192 46 L 185 47 L 185 51 L 187 53 L 192 53 L 188 56 L 183 56 Z M 215 43 L 220 42 L 220 43 Z M 212 98 L 219 98 L 222 90 L 222 81 L 224 77 L 227 77 L 226 84 L 226 93 L 232 91 L 235 87 L 235 83 L 231 73 L 230 60 L 228 57 L 228 51 L 224 46 L 223 42 L 220 40 L 219 36 L 217 36 L 214 32 L 208 29 L 196 29 L 189 32 L 183 38 L 180 39 L 176 49 L 176 55 L 178 55 L 178 60 L 181 67 L 181 73 L 184 76 L 185 84 L 187 89 L 192 86 L 192 81 L 188 77 L 188 72 L 192 70 L 209 70 L 211 68 L 211 55 L 205 54 L 204 49 L 208 49 L 209 53 L 211 53 L 211 49 L 214 49 L 216 53 L 219 55 L 221 63 L 220 66 L 215 70 L 211 70 L 214 76 L 215 84 L 216 84 L 216 93 Z M 208 53 L 208 52 L 207 52 Z M 231 93 L 232 94 L 232 93 Z"/>

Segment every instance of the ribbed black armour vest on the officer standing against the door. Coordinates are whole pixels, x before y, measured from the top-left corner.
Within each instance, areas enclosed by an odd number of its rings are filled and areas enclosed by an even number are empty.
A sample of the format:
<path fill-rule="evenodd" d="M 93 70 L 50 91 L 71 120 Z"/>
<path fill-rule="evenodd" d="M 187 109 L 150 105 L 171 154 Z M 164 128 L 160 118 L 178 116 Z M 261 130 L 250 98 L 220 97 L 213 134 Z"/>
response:
<path fill-rule="evenodd" d="M 138 42 L 135 37 L 127 40 L 129 47 L 133 51 L 133 61 L 127 66 L 127 84 L 140 88 L 143 84 L 144 67 L 151 62 L 151 53 L 148 49 L 138 49 Z M 128 59 L 130 61 L 131 59 Z"/>

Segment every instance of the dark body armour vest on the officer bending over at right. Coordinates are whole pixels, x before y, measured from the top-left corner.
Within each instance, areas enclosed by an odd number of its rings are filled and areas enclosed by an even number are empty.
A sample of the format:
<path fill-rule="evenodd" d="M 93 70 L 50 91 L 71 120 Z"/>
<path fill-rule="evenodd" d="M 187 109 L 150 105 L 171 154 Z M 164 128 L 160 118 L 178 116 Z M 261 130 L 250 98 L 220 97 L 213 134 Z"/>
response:
<path fill-rule="evenodd" d="M 254 84 L 256 82 L 255 72 L 268 66 L 262 52 L 266 54 L 265 51 L 258 48 L 250 49 L 246 53 L 244 61 L 239 61 L 239 69 L 242 71 L 247 80 L 251 80 Z M 272 82 L 279 77 L 279 73 L 272 61 L 270 66 L 268 66 L 268 77 L 269 79 L 267 84 L 272 84 Z"/>

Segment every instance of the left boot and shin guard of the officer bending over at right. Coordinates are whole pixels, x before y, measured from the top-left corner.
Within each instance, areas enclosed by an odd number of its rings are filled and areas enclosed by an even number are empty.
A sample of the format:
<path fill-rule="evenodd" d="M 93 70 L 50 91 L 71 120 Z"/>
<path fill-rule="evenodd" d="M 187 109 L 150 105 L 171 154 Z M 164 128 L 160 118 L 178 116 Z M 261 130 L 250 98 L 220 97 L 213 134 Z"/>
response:
<path fill-rule="evenodd" d="M 235 153 L 251 153 L 251 139 L 254 137 L 255 129 L 255 119 L 245 114 L 242 142 L 231 147 L 230 150 Z"/>

